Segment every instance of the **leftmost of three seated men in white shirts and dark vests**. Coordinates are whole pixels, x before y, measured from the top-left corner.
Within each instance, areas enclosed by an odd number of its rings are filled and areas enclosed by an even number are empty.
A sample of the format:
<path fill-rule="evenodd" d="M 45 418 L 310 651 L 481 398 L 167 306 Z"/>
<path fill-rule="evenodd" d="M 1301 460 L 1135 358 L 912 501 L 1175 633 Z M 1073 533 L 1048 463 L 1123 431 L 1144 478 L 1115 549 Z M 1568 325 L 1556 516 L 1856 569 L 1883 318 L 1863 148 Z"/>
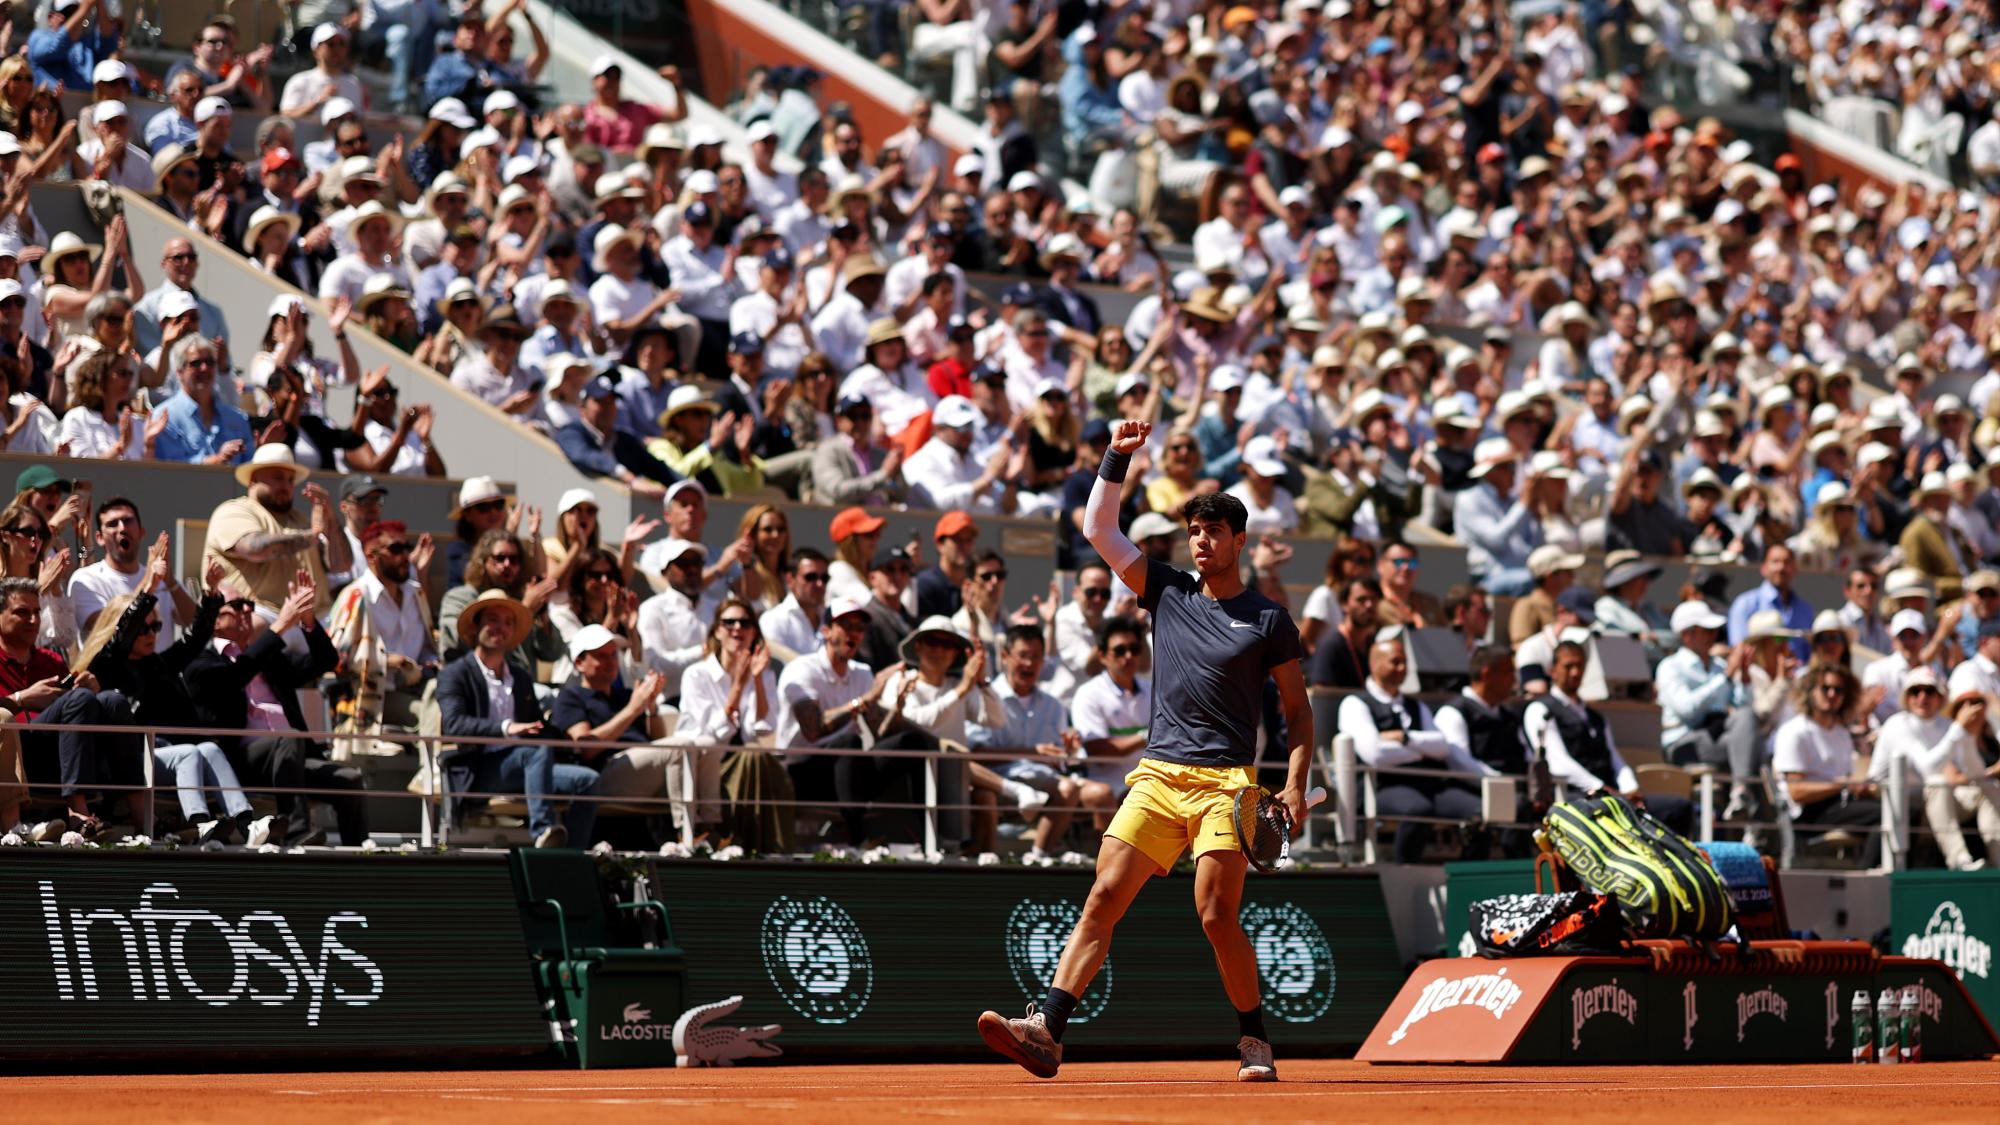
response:
<path fill-rule="evenodd" d="M 1428 705 L 1404 699 L 1402 681 L 1410 667 L 1400 639 L 1370 643 L 1360 651 L 1368 655 L 1366 687 L 1342 699 L 1338 715 L 1338 729 L 1354 739 L 1360 761 L 1376 769 L 1498 773 L 1440 735 Z M 1470 781 L 1456 777 L 1388 773 L 1376 781 L 1376 809 L 1390 821 L 1402 817 L 1470 821 L 1480 815 L 1480 795 Z M 1396 863 L 1422 863 L 1428 837 L 1430 829 L 1424 823 L 1396 825 Z"/>

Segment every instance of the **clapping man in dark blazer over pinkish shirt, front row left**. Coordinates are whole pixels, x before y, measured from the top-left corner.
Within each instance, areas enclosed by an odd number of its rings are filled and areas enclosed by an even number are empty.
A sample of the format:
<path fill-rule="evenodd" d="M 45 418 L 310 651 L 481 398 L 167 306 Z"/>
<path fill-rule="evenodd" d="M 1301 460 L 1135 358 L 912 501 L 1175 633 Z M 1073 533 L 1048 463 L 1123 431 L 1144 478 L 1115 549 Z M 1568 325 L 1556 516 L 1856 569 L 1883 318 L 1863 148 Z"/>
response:
<path fill-rule="evenodd" d="M 312 827 L 306 799 L 284 791 L 346 789 L 348 797 L 326 797 L 340 823 L 340 843 L 358 847 L 368 841 L 368 807 L 362 797 L 362 771 L 328 761 L 308 731 L 298 707 L 298 691 L 312 687 L 334 671 L 334 643 L 312 615 L 316 591 L 300 571 L 278 617 L 264 625 L 256 601 L 226 591 L 228 601 L 216 613 L 216 637 L 208 653 L 194 657 L 182 673 L 196 713 L 210 727 L 242 731 L 242 739 L 216 739 L 246 789 L 270 787 L 278 793 L 278 811 L 288 823 L 288 845 L 318 845 L 324 837 Z M 292 629 L 304 635 L 306 651 L 284 645 Z"/>

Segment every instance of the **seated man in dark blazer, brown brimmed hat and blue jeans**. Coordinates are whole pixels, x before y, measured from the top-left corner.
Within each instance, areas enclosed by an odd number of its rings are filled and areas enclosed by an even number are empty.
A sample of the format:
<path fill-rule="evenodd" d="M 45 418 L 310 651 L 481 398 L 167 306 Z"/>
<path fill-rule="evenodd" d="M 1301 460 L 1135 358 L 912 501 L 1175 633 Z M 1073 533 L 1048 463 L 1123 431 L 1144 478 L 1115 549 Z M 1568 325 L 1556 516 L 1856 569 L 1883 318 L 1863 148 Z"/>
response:
<path fill-rule="evenodd" d="M 514 675 L 506 659 L 532 629 L 534 615 L 504 591 L 486 591 L 458 611 L 458 637 L 472 641 L 472 651 L 438 673 L 438 711 L 446 739 L 542 737 L 542 705 L 534 699 L 534 681 Z M 558 763 L 548 743 L 460 747 L 444 769 L 452 791 L 526 795 L 534 847 L 590 847 L 596 801 L 570 801 L 570 811 L 556 823 L 552 797 L 596 793 L 598 773 Z"/>

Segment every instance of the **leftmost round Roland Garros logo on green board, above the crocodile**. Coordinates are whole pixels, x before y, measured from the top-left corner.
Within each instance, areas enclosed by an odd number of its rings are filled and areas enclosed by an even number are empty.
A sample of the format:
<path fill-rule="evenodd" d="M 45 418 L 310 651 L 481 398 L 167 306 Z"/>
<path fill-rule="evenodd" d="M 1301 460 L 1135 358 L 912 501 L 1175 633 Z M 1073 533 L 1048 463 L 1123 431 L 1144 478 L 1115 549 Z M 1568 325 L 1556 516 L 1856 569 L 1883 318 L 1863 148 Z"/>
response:
<path fill-rule="evenodd" d="M 764 973 L 784 1003 L 814 1023 L 848 1023 L 868 1007 L 874 963 L 854 915 L 818 895 L 780 895 L 760 927 Z"/>

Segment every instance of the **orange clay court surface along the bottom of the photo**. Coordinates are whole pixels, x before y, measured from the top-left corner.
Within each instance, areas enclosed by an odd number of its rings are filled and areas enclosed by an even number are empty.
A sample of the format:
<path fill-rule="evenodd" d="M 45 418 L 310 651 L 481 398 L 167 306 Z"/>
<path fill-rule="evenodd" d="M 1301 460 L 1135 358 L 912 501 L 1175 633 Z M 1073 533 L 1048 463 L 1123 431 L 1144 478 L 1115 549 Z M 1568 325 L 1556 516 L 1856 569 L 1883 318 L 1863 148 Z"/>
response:
<path fill-rule="evenodd" d="M 1246 1087 L 1234 1061 L 720 1071 L 346 1071 L 18 1077 L 10 1117 L 54 1121 L 2000 1121 L 2000 1063 L 1916 1067 L 1370 1067 L 1286 1061 Z M 1224 1079 L 1224 1081 L 1218 1081 Z"/>

